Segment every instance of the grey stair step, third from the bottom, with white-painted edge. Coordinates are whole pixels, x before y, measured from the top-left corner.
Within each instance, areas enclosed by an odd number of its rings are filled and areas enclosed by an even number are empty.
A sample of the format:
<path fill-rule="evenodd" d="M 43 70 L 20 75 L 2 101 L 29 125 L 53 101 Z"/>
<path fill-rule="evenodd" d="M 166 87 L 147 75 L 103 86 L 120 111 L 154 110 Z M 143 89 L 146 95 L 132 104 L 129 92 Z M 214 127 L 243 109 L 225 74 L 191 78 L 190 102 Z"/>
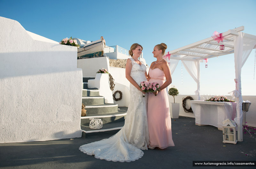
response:
<path fill-rule="evenodd" d="M 88 115 L 110 115 L 118 112 L 117 104 L 85 105 L 86 114 Z"/>

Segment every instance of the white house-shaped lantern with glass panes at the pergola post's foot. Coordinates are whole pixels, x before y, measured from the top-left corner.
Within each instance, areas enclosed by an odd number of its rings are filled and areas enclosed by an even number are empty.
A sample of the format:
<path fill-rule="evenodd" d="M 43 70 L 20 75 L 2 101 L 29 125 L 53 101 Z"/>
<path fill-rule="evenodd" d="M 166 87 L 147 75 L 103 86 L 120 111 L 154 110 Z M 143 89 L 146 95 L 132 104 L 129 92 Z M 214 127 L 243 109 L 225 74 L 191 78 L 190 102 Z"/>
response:
<path fill-rule="evenodd" d="M 237 143 L 236 139 L 236 122 L 230 119 L 223 121 L 223 143 Z"/>

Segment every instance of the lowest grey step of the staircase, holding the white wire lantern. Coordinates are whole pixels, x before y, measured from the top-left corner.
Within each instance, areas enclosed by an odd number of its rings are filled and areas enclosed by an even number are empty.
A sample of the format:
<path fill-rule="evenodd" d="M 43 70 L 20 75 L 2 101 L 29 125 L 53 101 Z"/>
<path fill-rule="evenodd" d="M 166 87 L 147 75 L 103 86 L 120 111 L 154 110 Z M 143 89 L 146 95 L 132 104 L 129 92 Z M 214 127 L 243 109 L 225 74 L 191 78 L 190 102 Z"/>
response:
<path fill-rule="evenodd" d="M 117 122 L 117 123 L 108 123 L 102 125 L 101 129 L 91 129 L 89 126 L 84 126 L 81 125 L 81 130 L 82 132 L 82 137 L 88 137 L 88 136 L 95 136 L 95 135 L 102 135 L 102 132 L 118 132 L 120 129 L 122 129 L 124 126 L 124 121 L 123 122 Z M 114 133 L 114 134 L 115 134 Z"/>

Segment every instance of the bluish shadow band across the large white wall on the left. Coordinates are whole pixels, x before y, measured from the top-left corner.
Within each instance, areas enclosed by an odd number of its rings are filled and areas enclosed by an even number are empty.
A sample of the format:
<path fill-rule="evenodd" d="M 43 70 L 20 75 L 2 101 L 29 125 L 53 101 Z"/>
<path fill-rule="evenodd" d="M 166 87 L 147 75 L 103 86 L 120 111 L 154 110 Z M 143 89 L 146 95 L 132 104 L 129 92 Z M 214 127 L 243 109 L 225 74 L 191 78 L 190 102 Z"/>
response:
<path fill-rule="evenodd" d="M 0 53 L 0 58 L 0 78 L 77 70 L 73 51 Z"/>

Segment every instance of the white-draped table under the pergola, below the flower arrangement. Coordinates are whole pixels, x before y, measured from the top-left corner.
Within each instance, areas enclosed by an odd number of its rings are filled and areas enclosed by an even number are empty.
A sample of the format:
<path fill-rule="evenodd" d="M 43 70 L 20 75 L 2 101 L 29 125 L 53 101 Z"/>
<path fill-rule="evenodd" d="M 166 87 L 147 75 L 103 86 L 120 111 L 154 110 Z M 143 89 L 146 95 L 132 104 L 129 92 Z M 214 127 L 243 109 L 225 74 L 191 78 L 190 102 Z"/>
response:
<path fill-rule="evenodd" d="M 190 100 L 196 125 L 212 125 L 222 130 L 222 121 L 236 118 L 236 102 Z"/>

